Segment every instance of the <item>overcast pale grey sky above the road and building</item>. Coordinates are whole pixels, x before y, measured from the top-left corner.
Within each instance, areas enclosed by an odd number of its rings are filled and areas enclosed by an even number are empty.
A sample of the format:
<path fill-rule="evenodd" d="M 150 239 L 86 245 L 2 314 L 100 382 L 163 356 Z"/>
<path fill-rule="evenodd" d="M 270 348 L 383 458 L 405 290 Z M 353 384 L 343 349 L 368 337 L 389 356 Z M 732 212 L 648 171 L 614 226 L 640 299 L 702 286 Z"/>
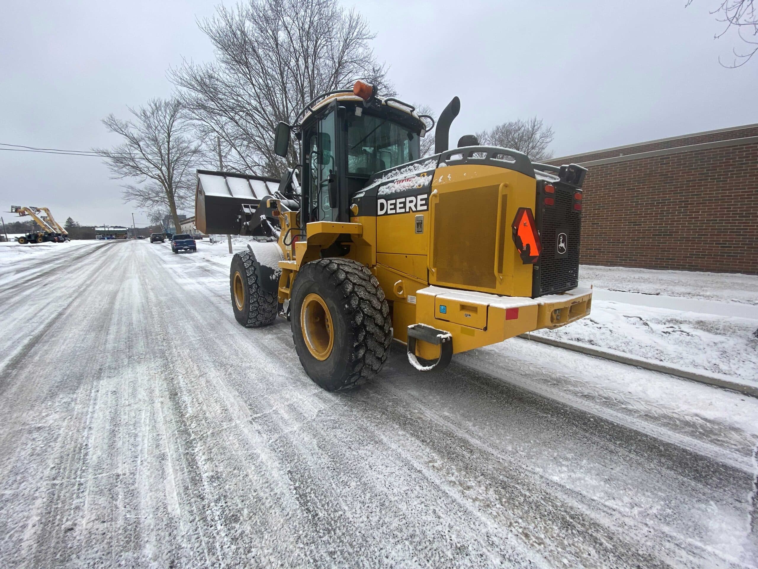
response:
<path fill-rule="evenodd" d="M 168 96 L 166 69 L 203 61 L 196 19 L 219 2 L 5 0 L 0 8 L 0 143 L 111 146 L 100 120 Z M 399 97 L 462 108 L 450 139 L 515 118 L 550 124 L 556 156 L 758 122 L 758 59 L 709 10 L 716 0 L 357 2 Z M 352 2 L 346 2 L 352 5 Z M 0 151 L 0 209 L 49 206 L 61 222 L 138 225 L 97 158 Z M 3 214 L 6 220 L 14 216 Z"/>

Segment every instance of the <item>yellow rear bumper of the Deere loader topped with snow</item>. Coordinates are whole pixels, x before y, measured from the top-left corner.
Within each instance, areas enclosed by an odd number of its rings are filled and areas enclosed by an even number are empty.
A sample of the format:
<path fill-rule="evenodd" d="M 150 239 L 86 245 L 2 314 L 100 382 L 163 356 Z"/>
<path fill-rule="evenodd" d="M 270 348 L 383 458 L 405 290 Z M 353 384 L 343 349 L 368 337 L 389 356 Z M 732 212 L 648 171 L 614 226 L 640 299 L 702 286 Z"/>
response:
<path fill-rule="evenodd" d="M 431 286 L 416 292 L 416 320 L 453 335 L 453 353 L 472 350 L 542 328 L 555 329 L 590 313 L 592 291 L 575 288 L 539 298 L 500 297 Z M 418 356 L 434 359 L 439 347 L 419 342 Z"/>

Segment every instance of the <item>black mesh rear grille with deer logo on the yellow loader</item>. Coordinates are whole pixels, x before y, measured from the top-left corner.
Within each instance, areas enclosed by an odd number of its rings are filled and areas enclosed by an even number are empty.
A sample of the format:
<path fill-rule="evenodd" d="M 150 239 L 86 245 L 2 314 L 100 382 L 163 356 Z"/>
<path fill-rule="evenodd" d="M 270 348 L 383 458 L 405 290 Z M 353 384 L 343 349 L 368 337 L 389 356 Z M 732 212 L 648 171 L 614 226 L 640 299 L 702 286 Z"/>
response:
<path fill-rule="evenodd" d="M 581 211 L 574 209 L 574 194 L 578 190 L 560 183 L 554 184 L 554 187 L 554 194 L 544 193 L 542 189 L 537 193 L 535 221 L 540 231 L 542 253 L 534 268 L 534 297 L 568 291 L 579 283 Z M 555 205 L 546 206 L 545 197 L 551 196 Z M 564 255 L 558 253 L 559 234 L 568 237 Z"/>

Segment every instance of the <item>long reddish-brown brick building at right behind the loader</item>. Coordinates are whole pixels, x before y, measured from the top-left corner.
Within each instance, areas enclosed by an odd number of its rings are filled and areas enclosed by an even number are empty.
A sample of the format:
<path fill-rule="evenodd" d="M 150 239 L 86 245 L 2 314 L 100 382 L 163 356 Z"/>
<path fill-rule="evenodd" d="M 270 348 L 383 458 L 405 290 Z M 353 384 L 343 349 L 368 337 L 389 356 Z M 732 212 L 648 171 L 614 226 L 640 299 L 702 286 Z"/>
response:
<path fill-rule="evenodd" d="M 582 263 L 758 274 L 758 124 L 549 162 L 589 170 Z"/>

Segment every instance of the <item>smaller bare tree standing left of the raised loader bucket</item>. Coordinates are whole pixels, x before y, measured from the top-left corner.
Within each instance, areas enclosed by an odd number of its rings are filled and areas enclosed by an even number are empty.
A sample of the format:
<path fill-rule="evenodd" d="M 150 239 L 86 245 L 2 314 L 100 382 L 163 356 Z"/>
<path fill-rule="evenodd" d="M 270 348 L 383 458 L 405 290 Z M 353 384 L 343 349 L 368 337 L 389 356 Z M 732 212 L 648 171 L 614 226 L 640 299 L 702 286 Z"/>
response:
<path fill-rule="evenodd" d="M 102 121 L 108 130 L 124 137 L 124 142 L 95 152 L 105 158 L 114 178 L 136 181 L 124 184 L 125 201 L 145 209 L 163 206 L 171 212 L 178 231 L 177 208 L 192 202 L 192 167 L 200 145 L 193 140 L 191 124 L 183 117 L 178 99 L 152 99 L 144 107 L 129 110 L 130 120 L 111 114 Z"/>

